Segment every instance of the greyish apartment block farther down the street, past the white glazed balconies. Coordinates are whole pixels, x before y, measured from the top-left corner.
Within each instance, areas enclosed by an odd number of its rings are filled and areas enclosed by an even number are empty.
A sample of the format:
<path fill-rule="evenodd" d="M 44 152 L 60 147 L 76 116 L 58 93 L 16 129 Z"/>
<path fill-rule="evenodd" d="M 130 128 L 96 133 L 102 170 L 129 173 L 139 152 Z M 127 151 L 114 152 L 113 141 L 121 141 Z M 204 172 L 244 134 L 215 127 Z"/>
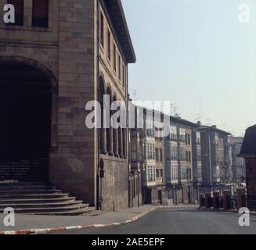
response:
<path fill-rule="evenodd" d="M 199 128 L 203 185 L 229 184 L 232 180 L 229 133 L 216 126 Z"/>

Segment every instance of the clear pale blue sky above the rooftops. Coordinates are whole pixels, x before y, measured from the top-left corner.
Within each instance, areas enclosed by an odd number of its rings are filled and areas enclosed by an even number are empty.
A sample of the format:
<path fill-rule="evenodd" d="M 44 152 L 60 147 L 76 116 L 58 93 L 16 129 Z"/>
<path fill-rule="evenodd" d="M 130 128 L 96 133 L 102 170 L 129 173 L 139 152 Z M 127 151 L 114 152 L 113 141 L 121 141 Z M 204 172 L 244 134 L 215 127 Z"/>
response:
<path fill-rule="evenodd" d="M 256 1 L 122 2 L 137 55 L 131 95 L 136 89 L 137 100 L 177 103 L 191 121 L 202 97 L 202 122 L 235 135 L 256 124 Z M 239 22 L 242 3 L 250 23 Z"/>

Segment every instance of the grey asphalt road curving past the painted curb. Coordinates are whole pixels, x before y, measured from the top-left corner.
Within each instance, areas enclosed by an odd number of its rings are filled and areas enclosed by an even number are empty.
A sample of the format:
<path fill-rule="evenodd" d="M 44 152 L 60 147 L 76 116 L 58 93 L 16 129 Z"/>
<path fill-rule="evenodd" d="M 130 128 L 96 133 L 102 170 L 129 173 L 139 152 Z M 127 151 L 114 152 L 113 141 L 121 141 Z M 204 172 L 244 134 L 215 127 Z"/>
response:
<path fill-rule="evenodd" d="M 127 225 L 55 234 L 256 234 L 256 216 L 251 216 L 250 227 L 240 227 L 238 220 L 236 213 L 157 209 Z"/>

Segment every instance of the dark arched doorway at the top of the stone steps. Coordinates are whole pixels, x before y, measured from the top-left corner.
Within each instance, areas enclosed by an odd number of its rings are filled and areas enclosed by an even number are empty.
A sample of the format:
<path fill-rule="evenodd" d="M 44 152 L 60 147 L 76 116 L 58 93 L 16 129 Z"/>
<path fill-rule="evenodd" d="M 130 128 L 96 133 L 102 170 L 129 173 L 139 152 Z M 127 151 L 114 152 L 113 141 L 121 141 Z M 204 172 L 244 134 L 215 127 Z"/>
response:
<path fill-rule="evenodd" d="M 31 66 L 0 64 L 0 180 L 48 181 L 51 83 Z"/>

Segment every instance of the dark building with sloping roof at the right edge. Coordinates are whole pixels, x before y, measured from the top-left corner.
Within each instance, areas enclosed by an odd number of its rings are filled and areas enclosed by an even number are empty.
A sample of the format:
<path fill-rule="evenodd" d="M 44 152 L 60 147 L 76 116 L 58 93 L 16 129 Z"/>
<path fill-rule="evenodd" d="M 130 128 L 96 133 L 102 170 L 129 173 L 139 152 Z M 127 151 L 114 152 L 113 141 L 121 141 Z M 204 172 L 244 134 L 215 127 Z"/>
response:
<path fill-rule="evenodd" d="M 247 208 L 256 210 L 256 125 L 249 127 L 240 152 L 246 162 Z"/>

